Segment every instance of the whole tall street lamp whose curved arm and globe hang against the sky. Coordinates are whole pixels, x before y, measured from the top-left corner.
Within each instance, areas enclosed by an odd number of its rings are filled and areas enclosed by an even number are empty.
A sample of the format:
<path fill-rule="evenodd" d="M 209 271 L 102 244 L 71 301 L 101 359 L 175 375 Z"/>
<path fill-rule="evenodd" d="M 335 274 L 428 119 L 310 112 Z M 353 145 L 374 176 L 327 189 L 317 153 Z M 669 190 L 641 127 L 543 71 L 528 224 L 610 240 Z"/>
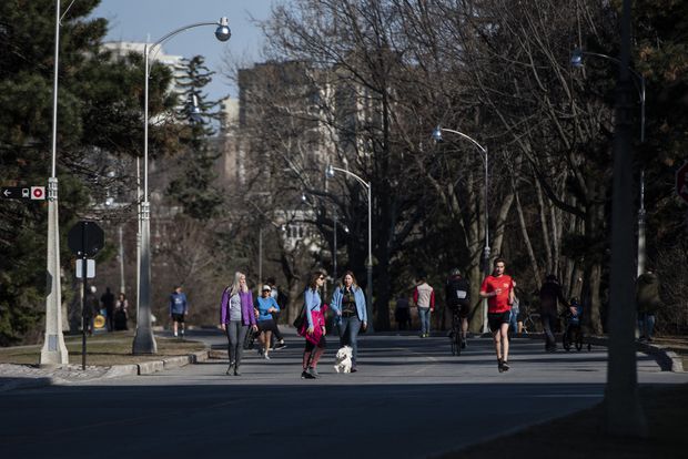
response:
<path fill-rule="evenodd" d="M 144 58 L 144 86 L 143 86 L 143 202 L 141 203 L 141 254 L 139 275 L 141 276 L 139 282 L 139 310 L 136 317 L 136 334 L 133 341 L 133 354 L 155 354 L 158 346 L 155 338 L 153 337 L 153 330 L 151 327 L 151 225 L 150 225 L 150 203 L 148 201 L 148 128 L 149 128 L 149 113 L 148 113 L 148 95 L 149 95 L 149 78 L 151 58 L 151 51 L 156 47 L 171 39 L 172 37 L 181 33 L 185 30 L 196 27 L 216 26 L 215 37 L 220 41 L 227 41 L 232 35 L 230 31 L 229 21 L 226 18 L 220 19 L 219 22 L 198 22 L 190 26 L 175 29 L 160 40 L 149 45 L 145 43 L 143 48 Z"/>

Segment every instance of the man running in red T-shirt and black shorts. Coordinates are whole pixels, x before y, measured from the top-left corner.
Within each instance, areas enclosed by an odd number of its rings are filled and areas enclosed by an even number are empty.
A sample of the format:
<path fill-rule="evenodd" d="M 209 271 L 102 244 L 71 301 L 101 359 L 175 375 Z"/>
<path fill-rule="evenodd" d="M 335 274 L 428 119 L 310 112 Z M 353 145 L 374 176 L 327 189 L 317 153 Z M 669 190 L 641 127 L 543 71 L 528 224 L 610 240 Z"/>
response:
<path fill-rule="evenodd" d="M 514 282 L 504 274 L 504 258 L 496 258 L 493 274 L 485 277 L 480 286 L 480 297 L 487 298 L 487 320 L 497 351 L 499 373 L 509 369 L 509 316 L 514 303 Z"/>

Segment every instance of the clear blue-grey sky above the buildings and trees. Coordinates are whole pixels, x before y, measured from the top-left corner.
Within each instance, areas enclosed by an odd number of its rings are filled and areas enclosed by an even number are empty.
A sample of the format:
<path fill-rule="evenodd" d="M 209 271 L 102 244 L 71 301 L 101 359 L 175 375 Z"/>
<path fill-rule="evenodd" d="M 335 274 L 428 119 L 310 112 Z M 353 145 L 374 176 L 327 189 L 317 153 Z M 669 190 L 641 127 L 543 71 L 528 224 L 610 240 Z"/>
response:
<path fill-rule="evenodd" d="M 232 38 L 224 43 L 215 39 L 213 27 L 199 27 L 184 31 L 163 44 L 166 54 L 205 57 L 206 65 L 216 72 L 208 85 L 208 94 L 211 100 L 216 100 L 226 95 L 239 95 L 234 84 L 221 74 L 226 49 L 243 67 L 263 61 L 260 53 L 262 32 L 253 23 L 253 19 L 267 19 L 273 2 L 274 0 L 102 0 L 91 17 L 108 19 L 109 31 L 104 41 L 139 42 L 145 42 L 149 37 L 151 42 L 155 42 L 181 27 L 195 22 L 214 22 L 226 17 L 230 20 Z"/>

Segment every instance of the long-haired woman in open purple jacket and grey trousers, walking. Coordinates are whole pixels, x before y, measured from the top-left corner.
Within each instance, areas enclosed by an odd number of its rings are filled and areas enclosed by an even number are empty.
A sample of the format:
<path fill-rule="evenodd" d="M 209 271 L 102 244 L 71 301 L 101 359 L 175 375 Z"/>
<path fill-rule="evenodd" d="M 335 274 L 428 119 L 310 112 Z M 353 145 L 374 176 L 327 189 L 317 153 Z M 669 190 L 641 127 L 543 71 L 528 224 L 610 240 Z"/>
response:
<path fill-rule="evenodd" d="M 220 312 L 220 326 L 226 332 L 229 341 L 230 366 L 226 374 L 230 375 L 233 369 L 234 376 L 241 376 L 239 367 L 246 332 L 249 326 L 254 332 L 257 329 L 253 314 L 253 295 L 246 286 L 246 276 L 243 273 L 234 274 L 234 284 L 227 286 L 222 293 Z"/>

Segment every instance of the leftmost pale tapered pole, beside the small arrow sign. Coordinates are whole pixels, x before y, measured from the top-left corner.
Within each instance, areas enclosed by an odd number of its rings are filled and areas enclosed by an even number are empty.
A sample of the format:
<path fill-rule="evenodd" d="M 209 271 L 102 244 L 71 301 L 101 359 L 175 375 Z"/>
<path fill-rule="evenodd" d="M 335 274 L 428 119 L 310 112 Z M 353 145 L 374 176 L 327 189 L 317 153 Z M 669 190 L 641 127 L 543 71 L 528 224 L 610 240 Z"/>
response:
<path fill-rule="evenodd" d="M 48 178 L 48 251 L 45 298 L 45 339 L 41 348 L 41 366 L 69 364 L 62 335 L 62 284 L 60 279 L 60 220 L 58 215 L 58 70 L 60 58 L 60 1 L 55 1 L 55 49 L 52 82 L 52 169 Z"/>

